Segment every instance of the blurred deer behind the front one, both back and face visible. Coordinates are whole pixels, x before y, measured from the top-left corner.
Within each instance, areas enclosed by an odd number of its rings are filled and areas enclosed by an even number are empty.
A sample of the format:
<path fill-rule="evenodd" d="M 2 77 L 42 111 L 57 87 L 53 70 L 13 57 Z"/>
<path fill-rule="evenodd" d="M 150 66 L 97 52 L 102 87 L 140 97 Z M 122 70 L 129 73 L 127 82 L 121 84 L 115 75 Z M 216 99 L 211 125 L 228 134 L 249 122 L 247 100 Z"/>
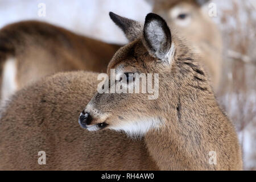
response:
<path fill-rule="evenodd" d="M 221 74 L 221 37 L 200 9 L 198 1 L 154 1 L 154 12 L 195 46 L 203 57 L 212 86 L 218 90 Z M 204 3 L 207 1 L 204 1 Z M 106 71 L 121 45 L 77 35 L 52 24 L 23 21 L 0 30 L 0 85 L 2 104 L 23 86 L 63 71 Z"/>

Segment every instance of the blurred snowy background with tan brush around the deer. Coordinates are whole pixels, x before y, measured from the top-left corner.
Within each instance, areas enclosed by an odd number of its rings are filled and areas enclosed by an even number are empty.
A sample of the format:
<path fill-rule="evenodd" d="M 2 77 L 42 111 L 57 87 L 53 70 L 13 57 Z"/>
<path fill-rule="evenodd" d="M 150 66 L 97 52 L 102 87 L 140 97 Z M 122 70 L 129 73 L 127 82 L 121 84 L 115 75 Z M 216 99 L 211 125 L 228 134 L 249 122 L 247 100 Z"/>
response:
<path fill-rule="evenodd" d="M 218 102 L 238 131 L 244 167 L 256 169 L 256 0 L 213 0 L 212 20 L 222 33 L 223 71 Z M 45 5 L 45 16 L 40 9 Z M 203 9 L 207 13 L 209 3 Z M 0 28 L 36 19 L 109 43 L 126 43 L 109 18 L 109 11 L 143 22 L 152 11 L 144 0 L 0 0 Z"/>

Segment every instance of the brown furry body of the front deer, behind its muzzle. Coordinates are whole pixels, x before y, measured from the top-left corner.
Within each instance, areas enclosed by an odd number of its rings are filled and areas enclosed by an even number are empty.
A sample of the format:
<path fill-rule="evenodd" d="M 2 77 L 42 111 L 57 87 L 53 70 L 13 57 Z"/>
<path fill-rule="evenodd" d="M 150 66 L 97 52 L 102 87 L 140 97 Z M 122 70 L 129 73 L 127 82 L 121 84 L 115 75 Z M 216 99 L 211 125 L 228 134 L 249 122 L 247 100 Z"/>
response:
<path fill-rule="evenodd" d="M 0 121 L 0 170 L 157 169 L 142 141 L 79 126 L 79 113 L 96 89 L 96 73 L 71 72 L 17 92 Z M 47 155 L 42 166 L 41 150 Z"/>

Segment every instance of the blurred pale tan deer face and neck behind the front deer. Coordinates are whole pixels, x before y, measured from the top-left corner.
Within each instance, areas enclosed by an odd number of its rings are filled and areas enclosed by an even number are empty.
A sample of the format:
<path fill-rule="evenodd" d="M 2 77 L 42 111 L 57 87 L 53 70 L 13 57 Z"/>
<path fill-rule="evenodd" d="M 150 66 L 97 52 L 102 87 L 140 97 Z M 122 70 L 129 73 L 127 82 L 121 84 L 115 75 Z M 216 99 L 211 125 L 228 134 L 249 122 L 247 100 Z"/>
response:
<path fill-rule="evenodd" d="M 154 13 L 166 19 L 195 52 L 199 53 L 203 67 L 209 74 L 214 90 L 218 90 L 222 68 L 222 39 L 220 31 L 201 6 L 208 1 L 153 0 Z"/>

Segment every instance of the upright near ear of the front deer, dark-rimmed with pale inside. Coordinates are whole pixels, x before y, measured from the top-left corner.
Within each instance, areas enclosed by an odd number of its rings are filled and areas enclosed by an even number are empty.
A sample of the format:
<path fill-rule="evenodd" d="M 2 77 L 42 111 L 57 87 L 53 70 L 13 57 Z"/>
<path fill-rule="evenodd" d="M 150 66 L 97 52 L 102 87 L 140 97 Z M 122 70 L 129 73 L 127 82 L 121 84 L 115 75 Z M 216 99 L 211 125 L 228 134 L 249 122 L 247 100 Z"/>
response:
<path fill-rule="evenodd" d="M 166 21 L 159 15 L 147 14 L 143 30 L 143 43 L 152 56 L 169 61 L 168 55 L 172 43 L 171 31 Z"/>

